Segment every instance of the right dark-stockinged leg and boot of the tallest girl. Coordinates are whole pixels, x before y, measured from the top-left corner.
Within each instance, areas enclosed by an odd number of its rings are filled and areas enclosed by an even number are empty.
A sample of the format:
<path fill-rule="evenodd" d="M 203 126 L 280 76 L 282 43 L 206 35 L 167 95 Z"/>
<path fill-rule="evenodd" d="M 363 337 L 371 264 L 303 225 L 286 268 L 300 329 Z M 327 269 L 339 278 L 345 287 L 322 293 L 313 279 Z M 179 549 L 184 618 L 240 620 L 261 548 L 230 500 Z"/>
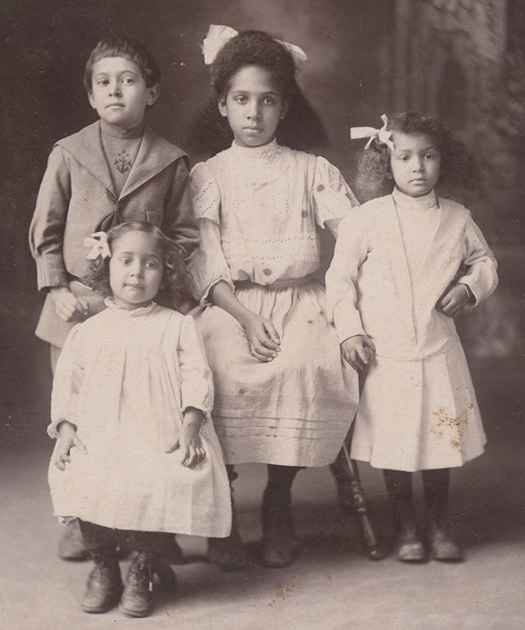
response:
<path fill-rule="evenodd" d="M 293 531 L 293 479 L 295 466 L 268 465 L 268 484 L 262 495 L 263 566 L 282 568 L 293 562 L 297 541 Z"/>

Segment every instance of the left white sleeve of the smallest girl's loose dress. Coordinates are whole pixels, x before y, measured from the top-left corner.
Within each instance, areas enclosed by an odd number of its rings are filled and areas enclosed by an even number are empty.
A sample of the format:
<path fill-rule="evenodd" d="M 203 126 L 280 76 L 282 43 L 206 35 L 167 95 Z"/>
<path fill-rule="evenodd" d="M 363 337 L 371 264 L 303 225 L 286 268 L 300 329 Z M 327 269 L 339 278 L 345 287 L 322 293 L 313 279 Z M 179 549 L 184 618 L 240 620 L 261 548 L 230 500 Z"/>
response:
<path fill-rule="evenodd" d="M 57 426 L 64 420 L 78 427 L 78 404 L 84 379 L 81 326 L 71 328 L 57 361 L 51 393 L 50 437 L 58 437 Z"/>

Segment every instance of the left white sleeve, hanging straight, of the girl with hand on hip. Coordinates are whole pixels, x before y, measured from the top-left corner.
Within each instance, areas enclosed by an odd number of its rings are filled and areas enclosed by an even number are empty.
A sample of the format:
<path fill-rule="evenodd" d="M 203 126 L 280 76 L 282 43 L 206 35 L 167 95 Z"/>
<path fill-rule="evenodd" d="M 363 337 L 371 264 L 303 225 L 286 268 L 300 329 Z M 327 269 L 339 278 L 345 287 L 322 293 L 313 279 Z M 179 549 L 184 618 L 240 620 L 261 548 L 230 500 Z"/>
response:
<path fill-rule="evenodd" d="M 357 308 L 357 279 L 369 249 L 363 211 L 353 209 L 339 223 L 334 257 L 326 274 L 327 317 L 335 324 L 339 343 L 366 334 Z"/>

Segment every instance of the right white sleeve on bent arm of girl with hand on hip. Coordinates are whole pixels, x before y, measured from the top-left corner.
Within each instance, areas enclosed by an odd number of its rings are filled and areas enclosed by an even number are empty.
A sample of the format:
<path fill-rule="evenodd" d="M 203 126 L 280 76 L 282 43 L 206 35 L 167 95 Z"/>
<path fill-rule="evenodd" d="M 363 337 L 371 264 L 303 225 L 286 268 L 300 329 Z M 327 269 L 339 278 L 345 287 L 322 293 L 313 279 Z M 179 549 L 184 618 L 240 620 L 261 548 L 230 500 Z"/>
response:
<path fill-rule="evenodd" d="M 465 249 L 463 262 L 468 269 L 458 282 L 468 285 L 477 305 L 498 286 L 498 263 L 470 212 L 465 225 Z"/>

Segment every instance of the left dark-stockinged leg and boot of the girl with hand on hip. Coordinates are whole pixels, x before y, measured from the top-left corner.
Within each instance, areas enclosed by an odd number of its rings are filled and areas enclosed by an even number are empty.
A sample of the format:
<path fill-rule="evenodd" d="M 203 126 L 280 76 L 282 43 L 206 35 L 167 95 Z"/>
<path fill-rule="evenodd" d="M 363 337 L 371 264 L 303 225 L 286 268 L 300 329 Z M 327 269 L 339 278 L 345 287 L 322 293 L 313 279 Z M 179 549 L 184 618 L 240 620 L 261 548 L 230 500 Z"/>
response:
<path fill-rule="evenodd" d="M 393 510 L 393 554 L 402 562 L 426 562 L 412 504 L 412 473 L 385 470 L 384 479 Z"/>

